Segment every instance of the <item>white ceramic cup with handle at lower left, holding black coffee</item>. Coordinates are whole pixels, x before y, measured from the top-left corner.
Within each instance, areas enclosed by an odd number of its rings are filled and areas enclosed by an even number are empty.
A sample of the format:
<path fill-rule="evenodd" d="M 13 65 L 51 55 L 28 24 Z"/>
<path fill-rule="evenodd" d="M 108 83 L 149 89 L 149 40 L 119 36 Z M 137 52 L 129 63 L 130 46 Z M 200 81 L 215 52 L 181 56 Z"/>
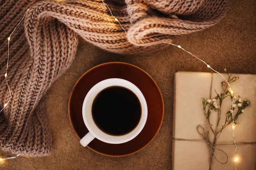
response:
<path fill-rule="evenodd" d="M 104 132 L 97 126 L 97 124 L 95 124 L 93 119 L 92 106 L 93 106 L 94 99 L 97 97 L 97 95 L 101 91 L 103 91 L 103 89 L 106 89 L 111 86 L 120 86 L 120 87 L 129 89 L 137 96 L 140 102 L 140 106 L 141 106 L 140 120 L 137 126 L 133 128 L 133 130 L 131 130 L 128 133 L 125 133 L 124 135 L 110 135 Z M 83 114 L 83 121 L 85 123 L 85 126 L 89 130 L 89 132 L 80 140 L 80 144 L 82 146 L 84 147 L 87 146 L 94 138 L 97 138 L 109 144 L 122 144 L 134 139 L 137 135 L 139 135 L 141 130 L 144 128 L 147 117 L 148 117 L 148 107 L 147 107 L 147 103 L 144 95 L 139 90 L 139 88 L 135 86 L 135 84 L 132 84 L 131 82 L 125 79 L 110 78 L 110 79 L 102 80 L 101 82 L 95 84 L 90 89 L 90 91 L 87 93 L 83 101 L 82 114 Z"/>

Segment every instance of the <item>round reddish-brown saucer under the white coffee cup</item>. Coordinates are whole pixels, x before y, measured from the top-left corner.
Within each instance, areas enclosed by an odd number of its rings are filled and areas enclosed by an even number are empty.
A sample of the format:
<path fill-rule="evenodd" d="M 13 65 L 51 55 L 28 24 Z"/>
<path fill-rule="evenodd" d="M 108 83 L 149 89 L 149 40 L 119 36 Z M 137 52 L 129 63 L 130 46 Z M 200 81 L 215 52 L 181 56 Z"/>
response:
<path fill-rule="evenodd" d="M 155 138 L 164 117 L 162 94 L 153 78 L 141 68 L 123 62 L 109 62 L 95 66 L 83 74 L 70 95 L 70 122 L 74 132 L 81 139 L 88 132 L 82 116 L 83 99 L 94 84 L 108 78 L 126 79 L 141 90 L 148 104 L 148 119 L 141 133 L 131 141 L 124 144 L 107 144 L 93 139 L 87 147 L 112 157 L 130 155 L 146 147 Z"/>

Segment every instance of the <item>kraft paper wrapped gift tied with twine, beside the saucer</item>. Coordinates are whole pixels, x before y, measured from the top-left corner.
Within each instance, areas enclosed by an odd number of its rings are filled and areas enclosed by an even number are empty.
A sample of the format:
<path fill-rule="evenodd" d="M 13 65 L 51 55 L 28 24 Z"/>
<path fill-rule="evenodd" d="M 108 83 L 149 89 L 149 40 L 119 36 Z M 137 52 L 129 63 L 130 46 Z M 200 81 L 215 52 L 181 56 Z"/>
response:
<path fill-rule="evenodd" d="M 222 73 L 227 79 L 227 74 Z M 211 78 L 212 76 L 212 78 Z M 251 106 L 246 107 L 245 112 L 239 115 L 234 129 L 234 137 L 237 144 L 237 158 L 235 159 L 235 148 L 232 123 L 227 126 L 216 144 L 213 158 L 212 170 L 256 170 L 256 75 L 233 74 L 239 79 L 231 83 L 234 95 L 251 102 Z M 205 127 L 205 117 L 201 97 L 216 97 L 216 92 L 222 92 L 221 82 L 225 79 L 217 73 L 196 73 L 177 72 L 175 73 L 174 86 L 174 112 L 173 112 L 173 170 L 209 170 L 211 152 L 206 141 L 197 131 L 197 126 Z M 211 90 L 210 90 L 211 88 Z M 216 90 L 216 92 L 215 92 Z M 229 98 L 229 99 L 227 99 Z M 231 109 L 231 98 L 227 97 L 222 104 L 222 114 L 226 115 Z M 237 97 L 238 99 L 238 97 Z M 234 99 L 234 102 L 237 100 Z M 234 114 L 236 113 L 234 109 Z M 216 126 L 217 112 L 211 113 L 213 127 Z M 224 118 L 225 121 L 225 118 Z M 223 119 L 220 124 L 224 124 Z M 210 138 L 212 138 L 211 136 Z M 248 142 L 250 144 L 244 144 Z M 223 150 L 224 152 L 220 151 Z"/>

